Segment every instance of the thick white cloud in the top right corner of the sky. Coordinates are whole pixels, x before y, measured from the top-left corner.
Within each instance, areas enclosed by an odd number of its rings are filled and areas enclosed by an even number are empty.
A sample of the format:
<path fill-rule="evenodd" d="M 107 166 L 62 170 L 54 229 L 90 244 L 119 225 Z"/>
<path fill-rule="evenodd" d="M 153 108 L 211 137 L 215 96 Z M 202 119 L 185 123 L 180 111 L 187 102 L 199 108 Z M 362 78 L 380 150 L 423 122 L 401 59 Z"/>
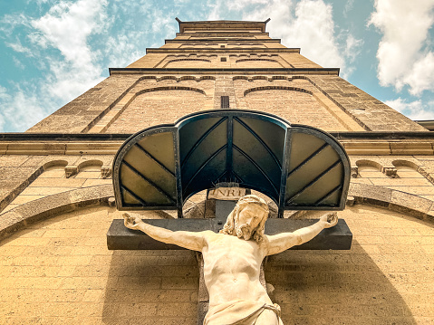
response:
<path fill-rule="evenodd" d="M 434 56 L 429 50 L 429 28 L 434 23 L 433 0 L 376 0 L 369 25 L 382 33 L 377 52 L 378 78 L 382 86 L 405 85 L 410 92 L 434 91 Z M 422 68 L 429 65 L 430 73 Z"/>

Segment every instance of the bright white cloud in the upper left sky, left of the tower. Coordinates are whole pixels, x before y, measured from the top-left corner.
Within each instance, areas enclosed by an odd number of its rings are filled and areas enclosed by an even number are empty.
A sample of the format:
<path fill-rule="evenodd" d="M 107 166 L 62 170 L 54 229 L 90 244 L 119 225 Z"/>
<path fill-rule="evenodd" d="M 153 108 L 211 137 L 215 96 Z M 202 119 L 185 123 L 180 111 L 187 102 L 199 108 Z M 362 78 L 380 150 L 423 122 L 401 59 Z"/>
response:
<path fill-rule="evenodd" d="M 106 28 L 107 1 L 79 0 L 53 5 L 43 17 L 31 21 L 31 41 L 42 48 L 54 48 L 63 58 L 49 57 L 52 76 L 47 90 L 60 99 L 71 100 L 101 81 L 98 57 L 88 39 Z"/>

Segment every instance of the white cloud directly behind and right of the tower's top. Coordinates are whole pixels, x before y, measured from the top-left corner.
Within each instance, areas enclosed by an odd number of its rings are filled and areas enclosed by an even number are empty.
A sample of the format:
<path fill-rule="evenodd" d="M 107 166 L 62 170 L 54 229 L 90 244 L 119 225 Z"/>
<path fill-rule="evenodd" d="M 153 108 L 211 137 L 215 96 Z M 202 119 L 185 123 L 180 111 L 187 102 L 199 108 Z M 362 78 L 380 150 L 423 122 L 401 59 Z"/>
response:
<path fill-rule="evenodd" d="M 350 4 L 351 5 L 351 4 Z M 227 10 L 242 12 L 244 20 L 264 21 L 270 17 L 267 29 L 271 36 L 281 38 L 288 47 L 300 47 L 301 53 L 323 67 L 341 68 L 348 77 L 362 47 L 362 40 L 351 34 L 337 37 L 334 32 L 333 7 L 323 0 L 217 1 L 208 19 L 221 19 Z M 348 33 L 348 32 L 347 32 Z"/>

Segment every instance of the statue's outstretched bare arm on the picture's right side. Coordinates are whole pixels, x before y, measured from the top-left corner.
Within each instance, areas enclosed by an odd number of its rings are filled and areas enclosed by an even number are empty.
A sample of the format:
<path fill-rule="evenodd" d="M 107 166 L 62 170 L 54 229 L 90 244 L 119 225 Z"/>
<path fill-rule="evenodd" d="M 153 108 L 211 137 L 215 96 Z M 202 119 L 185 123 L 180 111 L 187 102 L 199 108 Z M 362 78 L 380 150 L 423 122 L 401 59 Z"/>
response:
<path fill-rule="evenodd" d="M 333 227 L 338 223 L 338 215 L 334 213 L 328 213 L 323 215 L 320 220 L 308 227 L 304 227 L 294 231 L 293 233 L 282 233 L 269 235 L 268 238 L 268 253 L 267 255 L 273 255 L 275 253 L 281 253 L 285 250 L 299 244 L 304 244 L 313 239 L 314 236 L 319 234 L 324 228 Z"/>

